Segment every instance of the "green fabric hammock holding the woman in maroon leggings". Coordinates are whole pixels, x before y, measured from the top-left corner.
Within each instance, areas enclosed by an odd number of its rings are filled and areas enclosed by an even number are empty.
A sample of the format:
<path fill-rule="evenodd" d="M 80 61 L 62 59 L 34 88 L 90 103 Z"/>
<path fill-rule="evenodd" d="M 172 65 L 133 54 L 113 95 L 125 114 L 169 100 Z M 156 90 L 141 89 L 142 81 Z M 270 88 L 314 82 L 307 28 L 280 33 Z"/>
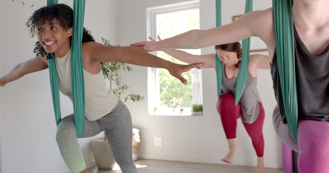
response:
<path fill-rule="evenodd" d="M 252 0 L 246 0 L 245 12 L 252 11 Z M 220 0 L 216 0 L 216 27 L 221 26 L 221 4 Z M 248 65 L 249 65 L 249 50 L 250 50 L 250 38 L 242 41 L 242 58 L 241 64 L 238 71 L 238 79 L 235 89 L 235 105 L 238 105 L 242 96 L 244 87 L 247 81 Z M 217 96 L 218 101 L 220 100 L 220 94 L 222 92 L 222 62 L 218 59 L 216 53 L 216 77 L 217 77 Z"/>

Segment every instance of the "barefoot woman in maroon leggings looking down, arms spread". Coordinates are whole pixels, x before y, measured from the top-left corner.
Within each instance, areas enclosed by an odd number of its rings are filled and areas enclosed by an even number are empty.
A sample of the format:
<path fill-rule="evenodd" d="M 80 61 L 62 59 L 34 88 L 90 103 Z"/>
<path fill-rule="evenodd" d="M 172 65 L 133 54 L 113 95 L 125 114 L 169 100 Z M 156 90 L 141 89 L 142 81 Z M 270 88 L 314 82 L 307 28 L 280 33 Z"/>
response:
<path fill-rule="evenodd" d="M 158 38 L 161 40 L 159 36 Z M 154 41 L 152 38 L 150 39 Z M 250 55 L 246 86 L 239 104 L 235 106 L 235 89 L 241 62 L 240 58 L 242 57 L 240 46 L 239 42 L 215 46 L 219 60 L 223 64 L 223 94 L 220 97 L 220 102 L 217 102 L 216 107 L 229 143 L 229 152 L 222 158 L 222 161 L 233 163 L 234 157 L 237 156 L 237 119 L 241 117 L 242 124 L 251 137 L 252 144 L 258 156 L 257 172 L 264 172 L 263 123 L 265 112 L 256 87 L 256 76 L 259 68 L 270 69 L 269 57 L 260 54 Z M 202 68 L 214 68 L 216 70 L 215 54 L 192 55 L 176 49 L 162 49 L 162 51 L 186 63 L 207 62 Z"/>

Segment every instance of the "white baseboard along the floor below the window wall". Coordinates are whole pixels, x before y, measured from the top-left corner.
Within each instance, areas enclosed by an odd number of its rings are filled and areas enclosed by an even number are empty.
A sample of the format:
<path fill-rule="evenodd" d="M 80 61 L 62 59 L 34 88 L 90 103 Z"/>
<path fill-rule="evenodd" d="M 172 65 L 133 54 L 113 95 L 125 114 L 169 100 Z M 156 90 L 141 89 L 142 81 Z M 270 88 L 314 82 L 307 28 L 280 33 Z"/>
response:
<path fill-rule="evenodd" d="M 210 163 L 210 164 L 227 164 L 227 165 L 240 165 L 240 166 L 257 166 L 257 160 L 241 160 L 234 159 L 234 163 L 228 164 L 220 161 L 221 157 L 194 157 L 194 156 L 175 156 L 163 154 L 145 154 L 139 153 L 138 158 L 152 159 L 152 160 L 166 160 L 166 161 L 180 161 L 180 162 L 193 162 L 193 163 Z M 264 161 L 266 168 L 282 168 L 282 163 Z"/>

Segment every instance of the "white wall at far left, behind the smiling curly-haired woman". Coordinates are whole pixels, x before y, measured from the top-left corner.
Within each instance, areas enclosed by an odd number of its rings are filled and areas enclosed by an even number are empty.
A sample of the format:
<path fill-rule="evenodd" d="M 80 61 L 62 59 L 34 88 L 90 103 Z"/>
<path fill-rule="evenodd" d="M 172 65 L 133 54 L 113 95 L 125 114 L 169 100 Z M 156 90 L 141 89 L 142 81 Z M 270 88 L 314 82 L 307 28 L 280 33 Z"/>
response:
<path fill-rule="evenodd" d="M 34 10 L 46 0 L 1 1 L 0 76 L 18 63 L 35 55 L 37 38 L 29 37 L 25 26 Z M 72 7 L 73 1 L 59 0 Z M 31 8 L 31 5 L 34 7 Z M 116 43 L 116 0 L 87 0 L 85 27 L 96 41 L 103 36 Z M 55 140 L 54 118 L 48 70 L 29 74 L 0 88 L 1 165 L 2 172 L 68 172 Z M 61 95 L 62 117 L 73 112 L 71 101 Z M 95 165 L 91 138 L 79 139 L 87 166 Z"/>

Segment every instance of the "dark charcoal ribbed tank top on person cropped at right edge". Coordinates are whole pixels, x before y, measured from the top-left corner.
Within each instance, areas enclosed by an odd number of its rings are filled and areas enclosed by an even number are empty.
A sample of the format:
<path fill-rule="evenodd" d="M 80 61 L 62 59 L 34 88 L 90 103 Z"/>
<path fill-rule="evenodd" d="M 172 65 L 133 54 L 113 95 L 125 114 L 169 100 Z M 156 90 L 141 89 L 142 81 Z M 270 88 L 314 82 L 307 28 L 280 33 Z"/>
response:
<path fill-rule="evenodd" d="M 295 27 L 293 30 L 298 118 L 329 121 L 329 45 L 322 53 L 313 55 L 299 38 Z M 275 99 L 282 122 L 286 124 L 276 52 L 271 62 L 271 74 Z"/>

